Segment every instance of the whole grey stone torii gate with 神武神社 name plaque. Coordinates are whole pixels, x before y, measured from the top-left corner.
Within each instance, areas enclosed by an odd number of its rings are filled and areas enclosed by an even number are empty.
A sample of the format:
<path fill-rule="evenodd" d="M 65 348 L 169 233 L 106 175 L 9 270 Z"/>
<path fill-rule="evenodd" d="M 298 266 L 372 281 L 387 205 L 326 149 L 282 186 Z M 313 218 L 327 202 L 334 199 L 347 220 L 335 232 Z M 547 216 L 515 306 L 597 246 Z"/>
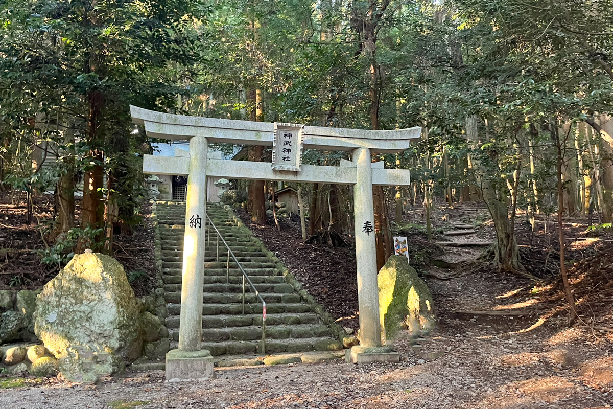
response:
<path fill-rule="evenodd" d="M 354 185 L 360 345 L 351 348 L 351 361 L 397 361 L 398 355 L 381 343 L 373 231 L 373 185 L 406 186 L 410 183 L 410 177 L 409 170 L 384 169 L 383 162 L 371 162 L 371 152 L 403 151 L 409 147 L 409 140 L 421 136 L 421 128 L 370 131 L 186 117 L 134 106 L 131 106 L 130 110 L 132 121 L 143 125 L 147 136 L 189 140 L 189 157 L 145 155 L 143 160 L 145 173 L 189 176 L 183 242 L 179 347 L 166 356 L 167 378 L 213 376 L 211 354 L 201 349 L 206 229 L 189 223 L 192 216 L 204 217 L 207 211 L 207 176 Z M 209 142 L 272 145 L 272 164 L 207 159 Z M 302 151 L 308 148 L 351 151 L 352 161 L 341 160 L 340 166 L 303 165 Z"/>

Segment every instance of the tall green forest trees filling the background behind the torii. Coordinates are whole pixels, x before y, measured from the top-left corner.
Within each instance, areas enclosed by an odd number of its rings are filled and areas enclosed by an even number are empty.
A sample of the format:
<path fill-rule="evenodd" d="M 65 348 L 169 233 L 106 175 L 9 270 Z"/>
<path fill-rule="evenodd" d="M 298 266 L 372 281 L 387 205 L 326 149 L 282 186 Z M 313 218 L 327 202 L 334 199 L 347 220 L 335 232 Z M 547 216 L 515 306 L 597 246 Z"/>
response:
<path fill-rule="evenodd" d="M 151 141 L 131 123 L 129 104 L 343 128 L 421 126 L 411 149 L 373 157 L 413 170 L 411 189 L 375 188 L 379 266 L 392 252 L 390 209 L 402 215 L 416 199 L 427 210 L 436 196 L 484 201 L 497 233 L 490 256 L 511 272 L 525 273 L 519 214 L 533 226 L 536 213 L 613 222 L 612 1 L 1 4 L 0 189 L 25 202 L 32 222 L 32 194 L 53 192 L 49 243 L 70 237 L 76 251 L 110 251 L 113 226 L 139 223 Z M 250 160 L 266 154 L 248 150 Z M 307 151 L 304 160 L 337 164 L 347 155 Z M 267 186 L 249 186 L 257 223 Z M 302 188 L 310 235 L 351 229 L 345 188 Z"/>

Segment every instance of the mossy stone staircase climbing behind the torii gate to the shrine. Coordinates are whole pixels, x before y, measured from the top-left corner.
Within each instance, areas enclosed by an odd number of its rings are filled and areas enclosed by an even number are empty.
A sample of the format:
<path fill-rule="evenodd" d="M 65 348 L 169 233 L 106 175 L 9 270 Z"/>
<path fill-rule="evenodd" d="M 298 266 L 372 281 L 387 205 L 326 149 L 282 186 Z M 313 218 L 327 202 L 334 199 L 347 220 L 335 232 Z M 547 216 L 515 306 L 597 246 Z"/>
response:
<path fill-rule="evenodd" d="M 301 296 L 294 286 L 286 283 L 259 240 L 246 232 L 245 227 L 238 227 L 219 204 L 208 204 L 207 212 L 267 304 L 265 353 L 342 350 L 343 346 L 332 337 L 321 316 L 313 312 L 313 304 L 303 299 L 304 293 Z M 157 202 L 154 213 L 161 242 L 162 279 L 168 308 L 166 326 L 172 337 L 171 347 L 177 348 L 185 203 Z M 205 253 L 202 347 L 210 350 L 217 361 L 228 355 L 262 354 L 262 304 L 246 285 L 243 314 L 242 273 L 230 257 L 226 282 L 227 249 L 220 240 L 217 259 L 217 235 L 212 227 L 210 231 Z"/>

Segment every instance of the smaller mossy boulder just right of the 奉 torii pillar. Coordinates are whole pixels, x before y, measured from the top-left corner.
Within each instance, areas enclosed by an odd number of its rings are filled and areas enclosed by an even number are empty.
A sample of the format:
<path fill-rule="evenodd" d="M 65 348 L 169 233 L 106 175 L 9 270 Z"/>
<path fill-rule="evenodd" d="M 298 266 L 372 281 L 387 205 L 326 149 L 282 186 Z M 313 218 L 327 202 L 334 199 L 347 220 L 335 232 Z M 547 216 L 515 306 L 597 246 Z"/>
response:
<path fill-rule="evenodd" d="M 412 335 L 432 329 L 436 323 L 432 294 L 405 257 L 391 256 L 377 281 L 384 340 L 392 340 L 402 328 Z"/>

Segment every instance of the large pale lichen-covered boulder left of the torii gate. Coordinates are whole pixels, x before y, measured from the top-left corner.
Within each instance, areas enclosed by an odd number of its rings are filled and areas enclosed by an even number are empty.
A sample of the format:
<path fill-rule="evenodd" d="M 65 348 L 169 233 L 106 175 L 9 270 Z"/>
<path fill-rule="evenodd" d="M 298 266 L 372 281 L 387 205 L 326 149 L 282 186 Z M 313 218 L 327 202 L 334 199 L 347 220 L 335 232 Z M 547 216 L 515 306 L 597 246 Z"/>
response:
<path fill-rule="evenodd" d="M 77 254 L 36 299 L 36 336 L 64 378 L 96 381 L 142 351 L 140 305 L 123 266 L 105 254 Z"/>

